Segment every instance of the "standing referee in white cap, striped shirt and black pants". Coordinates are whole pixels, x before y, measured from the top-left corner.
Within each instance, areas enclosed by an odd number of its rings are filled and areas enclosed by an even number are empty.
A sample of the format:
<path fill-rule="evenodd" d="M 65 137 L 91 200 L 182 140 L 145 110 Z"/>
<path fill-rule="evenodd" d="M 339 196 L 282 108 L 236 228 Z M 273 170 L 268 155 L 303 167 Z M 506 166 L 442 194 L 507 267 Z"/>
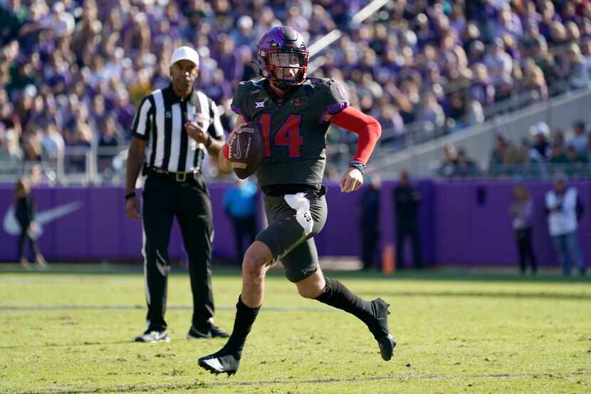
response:
<path fill-rule="evenodd" d="M 201 174 L 205 151 L 218 157 L 224 130 L 213 100 L 194 89 L 198 73 L 197 52 L 188 46 L 175 49 L 170 60 L 170 85 L 147 95 L 133 121 L 125 186 L 125 212 L 132 219 L 140 218 L 140 202 L 135 195 L 137 176 L 140 170 L 147 175 L 142 191 L 147 330 L 135 338 L 138 342 L 170 341 L 164 312 L 173 217 L 177 217 L 189 255 L 193 318 L 187 338 L 228 336 L 213 324 L 214 231 L 209 192 Z"/>

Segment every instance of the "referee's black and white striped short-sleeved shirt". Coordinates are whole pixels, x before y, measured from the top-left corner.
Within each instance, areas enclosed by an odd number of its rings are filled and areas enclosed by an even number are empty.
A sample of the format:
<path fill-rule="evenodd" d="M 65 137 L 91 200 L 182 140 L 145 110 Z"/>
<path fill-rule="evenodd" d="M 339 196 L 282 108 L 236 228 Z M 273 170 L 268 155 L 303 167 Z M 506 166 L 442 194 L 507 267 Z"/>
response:
<path fill-rule="evenodd" d="M 187 135 L 183 126 L 187 120 L 204 125 L 211 138 L 224 139 L 216 104 L 200 90 L 194 89 L 187 99 L 179 98 L 171 84 L 142 100 L 133 120 L 132 136 L 147 141 L 148 167 L 169 172 L 201 167 L 206 148 Z"/>

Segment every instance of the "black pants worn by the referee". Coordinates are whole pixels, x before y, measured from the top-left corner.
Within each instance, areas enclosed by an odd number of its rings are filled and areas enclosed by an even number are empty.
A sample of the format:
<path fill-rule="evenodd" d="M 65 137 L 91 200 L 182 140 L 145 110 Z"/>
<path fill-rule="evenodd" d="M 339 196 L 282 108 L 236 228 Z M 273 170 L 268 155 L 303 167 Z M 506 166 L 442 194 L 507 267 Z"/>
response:
<path fill-rule="evenodd" d="M 142 209 L 143 248 L 149 331 L 164 331 L 167 276 L 170 272 L 168 244 L 172 219 L 177 217 L 184 248 L 189 256 L 193 293 L 193 326 L 199 328 L 214 316 L 211 292 L 211 241 L 213 220 L 209 192 L 201 175 L 187 182 L 148 175 Z"/>

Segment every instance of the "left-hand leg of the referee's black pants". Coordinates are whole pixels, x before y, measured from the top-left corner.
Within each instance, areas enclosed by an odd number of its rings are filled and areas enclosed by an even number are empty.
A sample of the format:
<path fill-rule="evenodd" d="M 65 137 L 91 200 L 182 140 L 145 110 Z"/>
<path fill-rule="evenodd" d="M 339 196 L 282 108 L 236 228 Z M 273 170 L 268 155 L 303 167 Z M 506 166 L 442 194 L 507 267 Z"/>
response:
<path fill-rule="evenodd" d="M 170 272 L 168 244 L 172 227 L 171 190 L 159 180 L 146 182 L 143 192 L 142 227 L 144 274 L 148 306 L 148 331 L 164 331 L 167 299 L 167 278 Z"/>

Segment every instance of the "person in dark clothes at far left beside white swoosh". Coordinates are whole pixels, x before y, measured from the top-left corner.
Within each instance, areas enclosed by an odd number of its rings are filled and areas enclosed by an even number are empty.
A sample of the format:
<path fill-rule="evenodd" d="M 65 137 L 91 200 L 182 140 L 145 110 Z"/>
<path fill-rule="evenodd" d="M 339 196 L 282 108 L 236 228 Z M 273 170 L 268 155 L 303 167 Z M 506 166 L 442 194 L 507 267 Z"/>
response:
<path fill-rule="evenodd" d="M 39 250 L 36 241 L 36 232 L 38 231 L 35 223 L 35 200 L 31 195 L 31 185 L 26 177 L 21 177 L 16 182 L 14 189 L 14 215 L 21 227 L 21 236 L 19 237 L 19 257 L 18 261 L 24 269 L 30 269 L 28 259 L 25 254 L 25 242 L 31 245 L 31 251 L 35 256 L 35 262 L 40 268 L 46 268 L 47 264 L 43 254 Z"/>

